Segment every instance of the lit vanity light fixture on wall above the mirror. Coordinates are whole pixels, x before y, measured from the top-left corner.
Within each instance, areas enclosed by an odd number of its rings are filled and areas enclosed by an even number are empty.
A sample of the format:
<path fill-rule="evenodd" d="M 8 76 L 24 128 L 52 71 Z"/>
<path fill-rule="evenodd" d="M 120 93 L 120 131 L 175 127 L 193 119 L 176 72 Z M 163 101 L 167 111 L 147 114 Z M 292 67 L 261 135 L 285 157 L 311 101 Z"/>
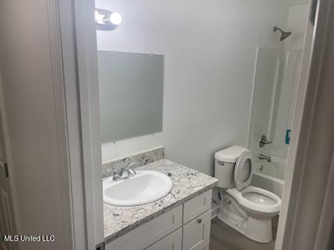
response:
<path fill-rule="evenodd" d="M 95 23 L 97 30 L 111 31 L 122 22 L 122 16 L 118 12 L 95 9 Z"/>

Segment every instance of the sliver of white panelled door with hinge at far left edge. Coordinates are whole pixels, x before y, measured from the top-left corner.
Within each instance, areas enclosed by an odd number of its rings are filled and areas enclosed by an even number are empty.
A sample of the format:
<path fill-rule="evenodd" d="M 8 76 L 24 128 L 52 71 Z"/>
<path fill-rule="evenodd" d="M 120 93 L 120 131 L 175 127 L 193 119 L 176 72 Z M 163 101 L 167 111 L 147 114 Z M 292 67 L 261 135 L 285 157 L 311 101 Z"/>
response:
<path fill-rule="evenodd" d="M 15 220 L 13 212 L 13 200 L 10 191 L 10 176 L 8 173 L 5 134 L 3 131 L 3 98 L 0 78 L 0 235 L 13 235 L 15 232 Z M 0 250 L 14 250 L 15 243 L 0 240 Z"/>

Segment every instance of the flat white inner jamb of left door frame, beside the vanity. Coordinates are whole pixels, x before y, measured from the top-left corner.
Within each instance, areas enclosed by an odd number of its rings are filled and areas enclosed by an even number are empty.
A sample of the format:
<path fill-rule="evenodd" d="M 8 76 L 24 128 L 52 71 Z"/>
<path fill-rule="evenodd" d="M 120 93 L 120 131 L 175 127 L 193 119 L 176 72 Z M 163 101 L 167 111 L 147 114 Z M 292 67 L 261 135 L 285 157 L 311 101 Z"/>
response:
<path fill-rule="evenodd" d="M 95 1 L 74 0 L 88 247 L 104 242 Z M 95 236 L 93 239 L 93 236 Z"/>

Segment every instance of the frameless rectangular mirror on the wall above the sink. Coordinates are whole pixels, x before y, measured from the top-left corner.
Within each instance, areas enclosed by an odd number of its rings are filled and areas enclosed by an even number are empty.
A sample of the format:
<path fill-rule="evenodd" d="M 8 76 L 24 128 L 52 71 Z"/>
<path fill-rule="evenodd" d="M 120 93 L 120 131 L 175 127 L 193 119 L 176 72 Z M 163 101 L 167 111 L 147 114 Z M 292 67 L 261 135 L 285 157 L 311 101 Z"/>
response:
<path fill-rule="evenodd" d="M 162 131 L 164 56 L 97 51 L 102 143 Z"/>

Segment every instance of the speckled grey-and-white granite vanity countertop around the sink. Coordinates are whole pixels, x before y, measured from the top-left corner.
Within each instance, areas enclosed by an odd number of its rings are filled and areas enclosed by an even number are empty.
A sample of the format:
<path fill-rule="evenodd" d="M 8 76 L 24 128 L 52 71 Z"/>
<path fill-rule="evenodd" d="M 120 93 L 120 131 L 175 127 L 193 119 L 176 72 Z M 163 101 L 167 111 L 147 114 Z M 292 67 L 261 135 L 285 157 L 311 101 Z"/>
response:
<path fill-rule="evenodd" d="M 104 203 L 104 242 L 109 243 L 145 222 L 166 213 L 185 201 L 216 186 L 218 180 L 196 170 L 162 159 L 136 170 L 154 170 L 172 174 L 173 189 L 166 197 L 141 206 L 113 206 Z"/>

